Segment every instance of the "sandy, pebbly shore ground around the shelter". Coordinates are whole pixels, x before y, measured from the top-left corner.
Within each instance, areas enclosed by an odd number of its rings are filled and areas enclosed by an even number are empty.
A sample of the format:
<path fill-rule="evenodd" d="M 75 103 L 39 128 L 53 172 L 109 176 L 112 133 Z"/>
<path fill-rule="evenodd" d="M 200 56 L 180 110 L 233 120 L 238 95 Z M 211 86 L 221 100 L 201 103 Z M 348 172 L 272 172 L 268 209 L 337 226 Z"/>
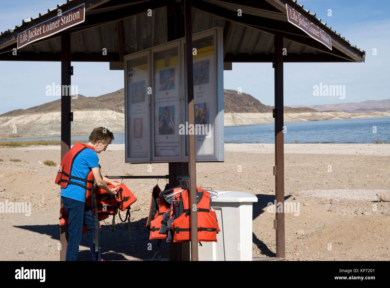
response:
<path fill-rule="evenodd" d="M 275 256 L 275 213 L 267 206 L 275 199 L 273 153 L 274 144 L 225 144 L 225 162 L 197 163 L 198 185 L 246 191 L 258 198 L 253 207 L 254 257 Z M 150 174 L 148 164 L 125 164 L 123 158 L 124 144 L 108 146 L 99 155 L 102 174 Z M 0 187 L 5 188 L 0 202 L 32 206 L 29 216 L 0 213 L 0 260 L 58 260 L 57 168 L 38 162 L 59 164 L 60 146 L 0 148 L 0 159 Z M 377 192 L 390 190 L 390 144 L 285 144 L 284 161 L 286 201 L 300 203 L 299 215 L 285 214 L 288 260 L 390 259 L 390 203 L 376 197 Z M 167 173 L 168 164 L 152 164 L 152 175 Z M 151 258 L 154 250 L 147 250 L 147 245 L 155 241 L 149 240 L 145 222 L 150 190 L 157 181 L 124 183 L 138 199 L 131 213 L 133 240 L 127 238 L 127 224 L 112 232 L 101 222 L 103 258 Z M 168 257 L 166 243 L 161 250 Z M 90 260 L 86 235 L 78 259 Z"/>

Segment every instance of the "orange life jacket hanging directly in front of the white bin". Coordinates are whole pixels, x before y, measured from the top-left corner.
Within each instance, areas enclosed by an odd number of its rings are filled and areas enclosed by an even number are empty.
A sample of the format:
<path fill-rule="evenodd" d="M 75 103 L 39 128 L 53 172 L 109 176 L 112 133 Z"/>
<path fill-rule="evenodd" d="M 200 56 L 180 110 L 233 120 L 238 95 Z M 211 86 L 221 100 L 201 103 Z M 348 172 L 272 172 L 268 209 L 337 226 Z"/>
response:
<path fill-rule="evenodd" d="M 175 188 L 174 193 L 182 190 Z M 200 194 L 200 195 L 199 195 Z M 216 213 L 210 210 L 210 193 L 197 187 L 197 196 L 201 196 L 197 203 L 197 226 L 199 242 L 217 242 L 216 234 L 220 231 L 216 219 Z M 184 190 L 175 195 L 177 203 L 181 209 L 172 208 L 174 211 L 180 211 L 180 215 L 175 215 L 171 229 L 173 233 L 173 242 L 181 243 L 191 240 L 190 233 L 190 199 L 188 190 Z"/>

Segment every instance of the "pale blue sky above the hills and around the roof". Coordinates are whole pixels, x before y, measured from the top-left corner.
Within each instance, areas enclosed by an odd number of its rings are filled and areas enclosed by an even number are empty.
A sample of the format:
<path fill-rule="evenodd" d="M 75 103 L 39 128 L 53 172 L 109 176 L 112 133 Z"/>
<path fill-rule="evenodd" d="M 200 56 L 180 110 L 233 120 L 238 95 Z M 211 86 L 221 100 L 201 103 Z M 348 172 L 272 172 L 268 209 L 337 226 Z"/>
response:
<path fill-rule="evenodd" d="M 22 19 L 55 8 L 61 0 L 0 0 L 0 30 L 14 28 Z M 64 1 L 63 1 L 64 2 Z M 284 104 L 382 100 L 389 95 L 390 1 L 378 0 L 298 0 L 304 9 L 316 12 L 358 48 L 366 51 L 365 63 L 286 63 L 284 64 Z M 327 16 L 332 9 L 332 16 Z M 372 49 L 377 55 L 372 55 Z M 288 52 L 287 52 L 288 53 Z M 72 62 L 72 84 L 78 93 L 99 96 L 124 87 L 123 71 L 110 71 L 108 63 Z M 274 74 L 271 64 L 233 63 L 224 71 L 224 88 L 251 94 L 266 105 L 273 105 Z M 29 108 L 59 99 L 46 96 L 46 85 L 60 84 L 60 62 L 0 61 L 0 114 Z M 313 85 L 345 85 L 346 97 L 313 96 Z"/>

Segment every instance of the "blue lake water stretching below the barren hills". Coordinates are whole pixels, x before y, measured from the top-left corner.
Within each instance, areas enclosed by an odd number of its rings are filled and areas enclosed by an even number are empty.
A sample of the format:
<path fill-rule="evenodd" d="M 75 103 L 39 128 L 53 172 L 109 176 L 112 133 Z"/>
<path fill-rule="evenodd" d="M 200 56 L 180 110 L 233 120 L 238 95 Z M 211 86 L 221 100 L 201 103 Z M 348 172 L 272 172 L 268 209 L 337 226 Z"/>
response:
<path fill-rule="evenodd" d="M 378 138 L 381 142 L 390 142 L 390 117 L 291 122 L 284 125 L 285 143 L 374 143 Z M 373 126 L 376 126 L 376 133 L 372 133 Z M 275 131 L 271 129 L 275 129 L 275 124 L 225 127 L 225 142 L 275 143 Z M 77 135 L 71 139 L 83 141 L 88 137 Z M 114 134 L 114 137 L 113 144 L 124 143 L 124 133 Z M 61 140 L 61 137 L 12 139 L 27 140 Z"/>

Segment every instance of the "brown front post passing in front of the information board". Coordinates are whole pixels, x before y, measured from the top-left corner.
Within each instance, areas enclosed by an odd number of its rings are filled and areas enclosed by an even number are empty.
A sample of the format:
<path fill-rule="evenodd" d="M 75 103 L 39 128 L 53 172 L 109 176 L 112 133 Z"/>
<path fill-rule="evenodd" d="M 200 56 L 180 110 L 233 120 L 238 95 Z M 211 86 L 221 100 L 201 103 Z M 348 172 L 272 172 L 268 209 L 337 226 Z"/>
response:
<path fill-rule="evenodd" d="M 194 87 L 192 71 L 191 0 L 184 0 L 187 59 L 188 126 L 195 124 Z M 196 199 L 195 135 L 188 135 L 188 168 L 190 171 L 191 261 L 198 261 L 198 219 Z M 195 209 L 194 209 L 195 208 Z"/>

